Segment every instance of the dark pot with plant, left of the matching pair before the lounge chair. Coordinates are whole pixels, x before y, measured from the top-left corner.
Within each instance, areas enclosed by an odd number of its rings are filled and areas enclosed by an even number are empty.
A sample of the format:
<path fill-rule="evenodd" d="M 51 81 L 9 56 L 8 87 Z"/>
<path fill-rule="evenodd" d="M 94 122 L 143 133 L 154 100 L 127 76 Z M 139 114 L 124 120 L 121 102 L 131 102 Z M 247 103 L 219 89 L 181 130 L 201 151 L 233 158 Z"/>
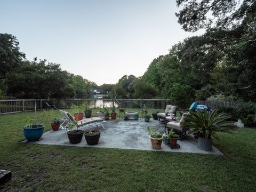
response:
<path fill-rule="evenodd" d="M 68 131 L 68 140 L 70 143 L 75 144 L 81 142 L 83 138 L 84 131 L 78 130 L 78 127 L 76 126 L 77 123 L 74 121 L 73 123 L 70 123 L 68 126 L 68 129 L 71 131 Z M 77 127 L 77 129 L 74 130 L 74 127 Z"/>

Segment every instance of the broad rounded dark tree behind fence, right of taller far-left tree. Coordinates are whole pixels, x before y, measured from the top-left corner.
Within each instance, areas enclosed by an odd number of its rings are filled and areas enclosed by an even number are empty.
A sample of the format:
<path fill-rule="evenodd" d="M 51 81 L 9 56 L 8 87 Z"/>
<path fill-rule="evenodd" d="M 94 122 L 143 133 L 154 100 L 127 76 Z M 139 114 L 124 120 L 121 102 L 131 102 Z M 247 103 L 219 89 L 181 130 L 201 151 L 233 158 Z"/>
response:
<path fill-rule="evenodd" d="M 25 61 L 15 71 L 6 74 L 8 95 L 22 99 L 71 98 L 73 74 L 62 71 L 59 64 L 46 60 Z"/>

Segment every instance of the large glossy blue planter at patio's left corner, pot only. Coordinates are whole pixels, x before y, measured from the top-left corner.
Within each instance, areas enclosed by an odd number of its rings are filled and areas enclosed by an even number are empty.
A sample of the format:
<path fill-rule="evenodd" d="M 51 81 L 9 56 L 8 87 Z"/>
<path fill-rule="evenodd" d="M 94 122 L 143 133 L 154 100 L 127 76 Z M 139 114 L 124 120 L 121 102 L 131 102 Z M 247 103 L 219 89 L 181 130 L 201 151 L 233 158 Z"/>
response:
<path fill-rule="evenodd" d="M 44 133 L 44 125 L 43 124 L 33 124 L 32 127 L 37 126 L 36 128 L 27 128 L 28 125 L 23 127 L 23 133 L 25 138 L 28 141 L 38 141 L 43 133 Z"/>

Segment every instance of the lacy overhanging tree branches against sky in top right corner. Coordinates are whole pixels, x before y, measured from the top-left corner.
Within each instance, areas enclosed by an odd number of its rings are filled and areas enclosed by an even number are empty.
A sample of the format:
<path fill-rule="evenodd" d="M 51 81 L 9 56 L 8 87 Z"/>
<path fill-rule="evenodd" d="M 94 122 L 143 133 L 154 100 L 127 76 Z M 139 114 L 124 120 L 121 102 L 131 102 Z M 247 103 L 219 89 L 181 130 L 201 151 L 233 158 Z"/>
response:
<path fill-rule="evenodd" d="M 176 13 L 178 22 L 185 31 L 200 28 L 237 28 L 246 19 L 255 19 L 255 0 L 176 0 L 183 9 Z M 255 21 L 255 20 L 254 20 Z"/>

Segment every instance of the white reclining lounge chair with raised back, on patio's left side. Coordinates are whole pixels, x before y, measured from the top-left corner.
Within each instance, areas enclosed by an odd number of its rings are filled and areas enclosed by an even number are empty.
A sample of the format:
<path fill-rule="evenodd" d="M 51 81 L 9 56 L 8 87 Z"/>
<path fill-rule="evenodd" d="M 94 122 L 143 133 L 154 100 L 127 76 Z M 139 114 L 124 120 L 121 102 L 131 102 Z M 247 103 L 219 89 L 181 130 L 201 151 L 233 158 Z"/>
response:
<path fill-rule="evenodd" d="M 103 119 L 99 117 L 91 117 L 91 118 L 84 118 L 80 121 L 76 121 L 73 116 L 71 116 L 67 111 L 60 110 L 60 113 L 65 117 L 64 121 L 60 125 L 60 129 L 67 131 L 68 130 L 68 124 L 69 123 L 74 123 L 76 125 L 75 128 L 77 129 L 85 129 L 86 126 L 90 125 L 97 125 L 100 124 L 103 129 L 105 129 L 105 126 L 103 126 L 102 123 Z"/>

